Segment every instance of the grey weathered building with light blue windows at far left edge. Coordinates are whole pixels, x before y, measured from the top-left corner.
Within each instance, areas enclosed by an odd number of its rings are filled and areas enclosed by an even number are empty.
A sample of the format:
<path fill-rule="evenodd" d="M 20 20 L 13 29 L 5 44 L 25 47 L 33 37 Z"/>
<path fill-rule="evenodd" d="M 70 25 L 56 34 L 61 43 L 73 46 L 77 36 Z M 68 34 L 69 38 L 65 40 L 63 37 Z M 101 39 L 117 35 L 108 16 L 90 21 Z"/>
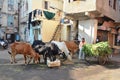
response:
<path fill-rule="evenodd" d="M 0 0 L 0 38 L 14 42 L 18 27 L 18 0 Z"/>

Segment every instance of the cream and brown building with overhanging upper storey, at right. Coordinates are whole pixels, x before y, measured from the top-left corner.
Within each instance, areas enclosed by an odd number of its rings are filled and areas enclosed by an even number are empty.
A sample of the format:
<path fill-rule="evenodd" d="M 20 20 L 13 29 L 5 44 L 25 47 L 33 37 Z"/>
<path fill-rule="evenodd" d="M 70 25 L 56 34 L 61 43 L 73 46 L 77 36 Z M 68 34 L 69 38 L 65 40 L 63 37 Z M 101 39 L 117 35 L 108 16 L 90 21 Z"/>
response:
<path fill-rule="evenodd" d="M 78 29 L 78 39 L 85 37 L 88 43 L 96 40 L 116 45 L 120 27 L 119 0 L 64 0 L 63 10 Z"/>

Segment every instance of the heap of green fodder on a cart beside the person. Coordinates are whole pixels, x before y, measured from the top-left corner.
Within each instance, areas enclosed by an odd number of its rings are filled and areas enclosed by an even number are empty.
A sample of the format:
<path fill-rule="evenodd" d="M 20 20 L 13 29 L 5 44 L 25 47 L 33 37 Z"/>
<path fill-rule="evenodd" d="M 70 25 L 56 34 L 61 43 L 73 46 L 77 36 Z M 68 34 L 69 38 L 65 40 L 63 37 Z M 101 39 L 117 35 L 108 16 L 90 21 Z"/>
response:
<path fill-rule="evenodd" d="M 97 57 L 100 64 L 105 64 L 106 61 L 108 61 L 108 55 L 112 53 L 112 49 L 108 42 L 85 44 L 82 51 L 85 53 L 86 57 Z"/>

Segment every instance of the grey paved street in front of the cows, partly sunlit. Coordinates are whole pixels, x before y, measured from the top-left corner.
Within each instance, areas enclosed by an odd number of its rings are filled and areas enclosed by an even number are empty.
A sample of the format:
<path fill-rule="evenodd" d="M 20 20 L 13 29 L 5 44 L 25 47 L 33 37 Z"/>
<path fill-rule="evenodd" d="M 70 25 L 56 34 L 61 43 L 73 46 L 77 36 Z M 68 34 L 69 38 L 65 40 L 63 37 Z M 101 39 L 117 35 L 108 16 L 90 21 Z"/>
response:
<path fill-rule="evenodd" d="M 23 56 L 16 57 L 18 63 L 10 64 L 7 50 L 0 49 L 0 80 L 119 80 L 120 55 L 114 55 L 111 63 L 98 65 L 84 61 L 62 64 L 48 68 L 44 64 L 23 64 Z"/>

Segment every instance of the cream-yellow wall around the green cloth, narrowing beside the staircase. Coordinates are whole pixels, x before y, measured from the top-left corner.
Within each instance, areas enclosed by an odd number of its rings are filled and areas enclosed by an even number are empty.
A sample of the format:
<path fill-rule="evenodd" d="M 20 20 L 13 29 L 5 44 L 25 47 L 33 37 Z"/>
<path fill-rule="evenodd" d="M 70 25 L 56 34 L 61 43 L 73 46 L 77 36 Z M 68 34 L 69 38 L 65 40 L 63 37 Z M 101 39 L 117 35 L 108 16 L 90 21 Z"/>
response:
<path fill-rule="evenodd" d="M 61 12 L 59 10 L 62 10 L 62 1 L 61 0 L 46 0 L 49 1 L 49 9 L 47 11 L 55 13 L 54 19 L 53 20 L 47 20 L 43 14 L 42 16 L 42 23 L 41 23 L 41 35 L 42 35 L 42 40 L 44 42 L 48 42 L 51 40 L 55 29 L 57 25 L 60 22 L 61 19 Z M 36 6 L 38 5 L 38 6 Z M 53 7 L 53 8 L 50 8 Z M 32 10 L 34 9 L 44 9 L 44 0 L 37 0 L 33 1 L 32 0 Z"/>

